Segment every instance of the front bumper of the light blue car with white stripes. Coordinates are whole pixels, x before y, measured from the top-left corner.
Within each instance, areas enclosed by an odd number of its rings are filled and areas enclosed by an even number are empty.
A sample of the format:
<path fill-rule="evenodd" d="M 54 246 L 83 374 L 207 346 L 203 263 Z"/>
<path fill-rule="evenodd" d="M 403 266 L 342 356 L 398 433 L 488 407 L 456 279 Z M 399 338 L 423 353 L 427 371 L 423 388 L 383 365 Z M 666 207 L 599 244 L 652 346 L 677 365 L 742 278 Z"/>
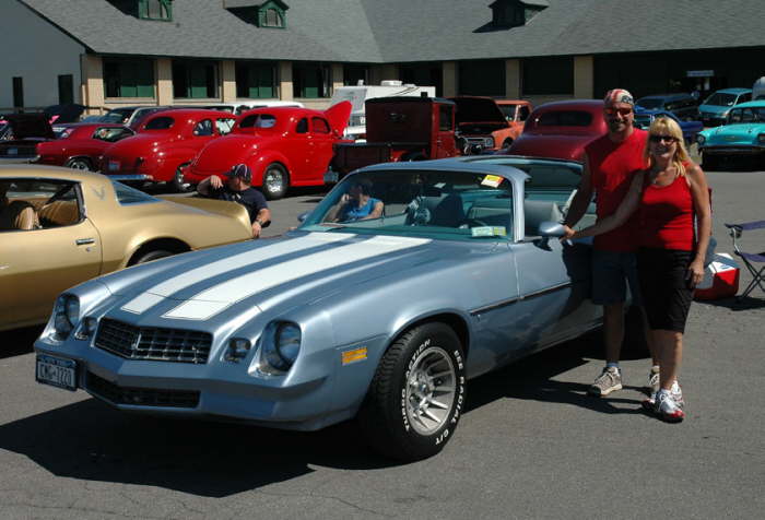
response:
<path fill-rule="evenodd" d="M 290 383 L 285 377 L 248 375 L 247 363 L 219 363 L 212 353 L 198 365 L 131 361 L 71 338 L 62 345 L 40 338 L 35 352 L 75 361 L 78 388 L 122 411 L 302 430 L 352 415 L 350 410 L 328 412 L 330 374 Z"/>

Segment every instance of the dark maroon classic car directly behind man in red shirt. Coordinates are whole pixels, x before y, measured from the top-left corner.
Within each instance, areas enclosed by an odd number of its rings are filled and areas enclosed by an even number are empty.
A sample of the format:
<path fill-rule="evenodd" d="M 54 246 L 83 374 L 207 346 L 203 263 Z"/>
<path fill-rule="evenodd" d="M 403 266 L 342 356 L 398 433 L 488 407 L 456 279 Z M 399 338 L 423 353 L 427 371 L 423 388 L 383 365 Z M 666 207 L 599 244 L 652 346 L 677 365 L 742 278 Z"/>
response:
<path fill-rule="evenodd" d="M 531 113 L 508 153 L 584 162 L 585 146 L 605 132 L 602 101 L 545 103 Z"/>

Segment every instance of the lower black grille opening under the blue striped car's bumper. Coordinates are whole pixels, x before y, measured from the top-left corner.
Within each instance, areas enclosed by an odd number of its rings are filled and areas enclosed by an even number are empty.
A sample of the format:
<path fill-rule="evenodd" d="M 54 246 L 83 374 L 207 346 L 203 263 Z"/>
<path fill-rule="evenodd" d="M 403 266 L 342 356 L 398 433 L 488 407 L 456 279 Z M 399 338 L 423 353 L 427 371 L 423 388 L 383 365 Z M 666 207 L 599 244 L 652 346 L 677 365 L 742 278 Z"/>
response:
<path fill-rule="evenodd" d="M 180 409 L 195 409 L 199 404 L 199 391 L 196 390 L 120 387 L 91 371 L 87 373 L 85 387 L 94 394 L 114 404 Z"/>

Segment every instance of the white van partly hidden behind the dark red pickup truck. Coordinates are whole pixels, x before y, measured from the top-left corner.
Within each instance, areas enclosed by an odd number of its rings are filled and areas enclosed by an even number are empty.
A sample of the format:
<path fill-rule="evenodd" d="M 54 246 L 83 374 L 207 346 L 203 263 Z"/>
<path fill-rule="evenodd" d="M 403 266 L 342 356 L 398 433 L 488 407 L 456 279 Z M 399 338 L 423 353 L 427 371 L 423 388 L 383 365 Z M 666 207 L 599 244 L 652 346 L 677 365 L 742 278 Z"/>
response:
<path fill-rule="evenodd" d="M 341 86 L 334 90 L 329 105 L 340 102 L 351 102 L 351 119 L 345 128 L 344 138 L 355 141 L 366 139 L 366 117 L 364 115 L 364 102 L 373 97 L 390 96 L 426 96 L 435 97 L 435 86 L 417 86 L 411 83 L 402 83 L 398 80 L 382 81 L 379 85 L 364 85 L 363 83 L 353 86 Z"/>

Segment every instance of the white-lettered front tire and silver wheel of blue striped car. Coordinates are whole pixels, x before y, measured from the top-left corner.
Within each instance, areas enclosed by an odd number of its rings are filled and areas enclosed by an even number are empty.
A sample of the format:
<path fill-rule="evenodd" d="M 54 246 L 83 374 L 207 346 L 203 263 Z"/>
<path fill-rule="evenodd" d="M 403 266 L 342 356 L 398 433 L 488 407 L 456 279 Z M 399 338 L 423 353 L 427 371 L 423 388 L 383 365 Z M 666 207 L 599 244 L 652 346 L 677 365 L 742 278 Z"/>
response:
<path fill-rule="evenodd" d="M 444 449 L 466 404 L 462 352 L 439 322 L 409 330 L 388 348 L 357 417 L 375 450 L 414 461 Z"/>

